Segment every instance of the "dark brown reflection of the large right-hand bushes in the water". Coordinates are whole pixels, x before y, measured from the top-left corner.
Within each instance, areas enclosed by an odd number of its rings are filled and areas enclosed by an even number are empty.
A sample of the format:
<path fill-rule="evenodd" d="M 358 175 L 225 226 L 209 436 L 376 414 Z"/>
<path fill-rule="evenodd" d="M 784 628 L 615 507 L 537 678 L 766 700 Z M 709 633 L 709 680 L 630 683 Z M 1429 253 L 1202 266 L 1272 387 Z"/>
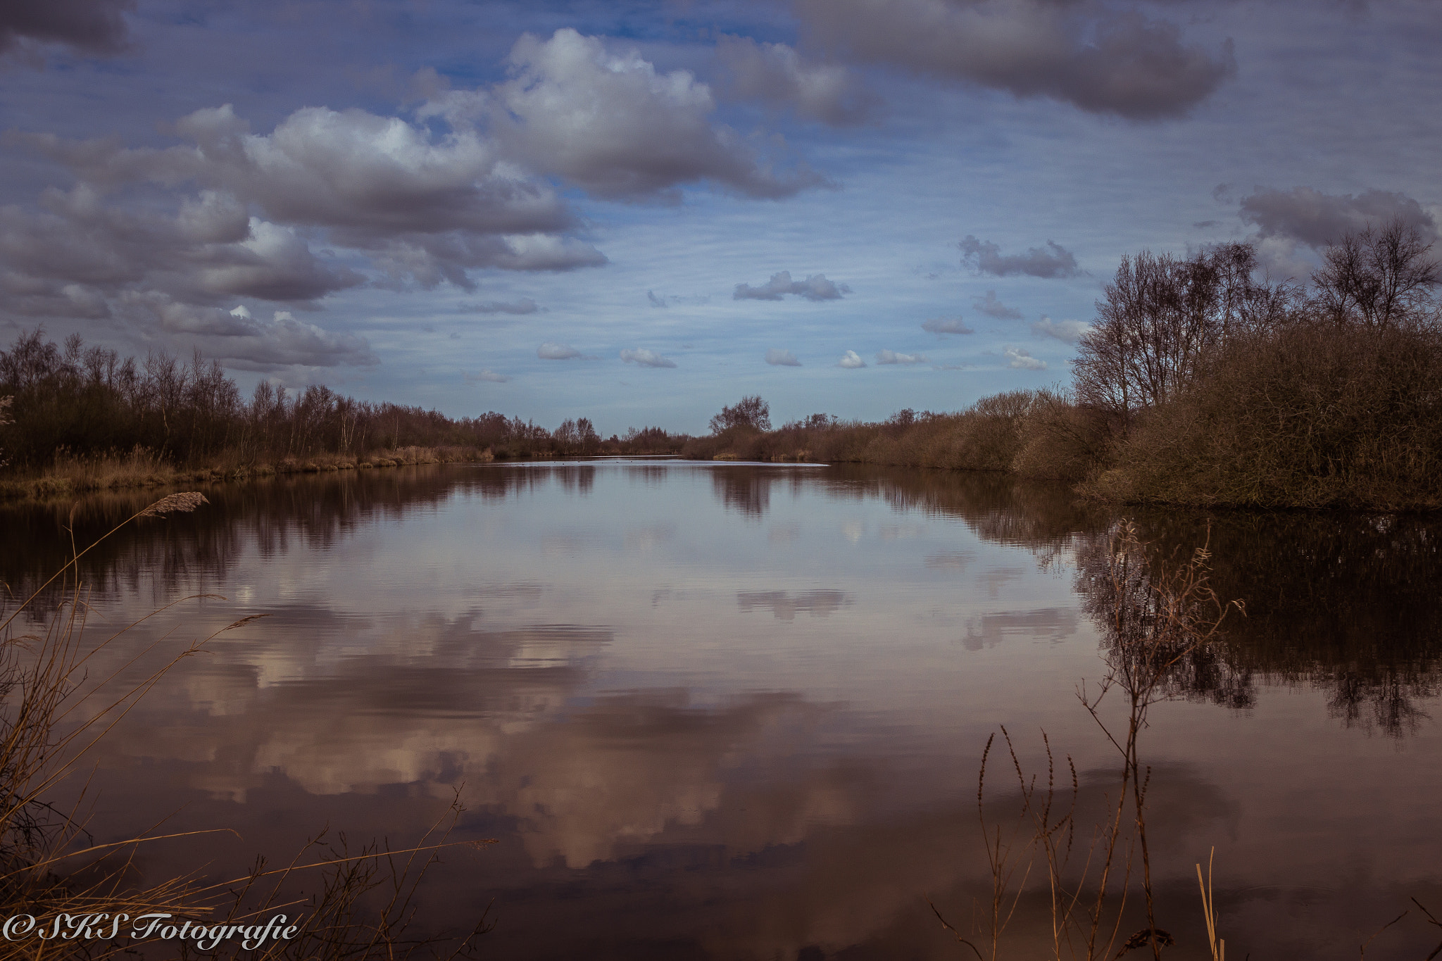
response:
<path fill-rule="evenodd" d="M 1247 608 L 1190 693 L 1250 706 L 1259 681 L 1309 684 L 1347 726 L 1405 736 L 1426 720 L 1420 702 L 1436 697 L 1442 671 L 1435 520 L 1144 513 L 1138 522 L 1158 550 L 1203 543 L 1210 527 L 1213 586 Z"/>

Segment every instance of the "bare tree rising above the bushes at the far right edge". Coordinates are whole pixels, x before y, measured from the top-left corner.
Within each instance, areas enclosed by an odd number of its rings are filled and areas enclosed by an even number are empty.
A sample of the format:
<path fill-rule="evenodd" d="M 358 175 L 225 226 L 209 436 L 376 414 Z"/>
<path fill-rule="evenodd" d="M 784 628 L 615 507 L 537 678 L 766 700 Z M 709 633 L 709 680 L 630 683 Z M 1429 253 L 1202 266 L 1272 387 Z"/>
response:
<path fill-rule="evenodd" d="M 1417 228 L 1393 219 L 1344 236 L 1327 249 L 1312 274 L 1317 305 L 1337 324 L 1387 330 L 1436 321 L 1433 288 L 1442 268 Z"/>

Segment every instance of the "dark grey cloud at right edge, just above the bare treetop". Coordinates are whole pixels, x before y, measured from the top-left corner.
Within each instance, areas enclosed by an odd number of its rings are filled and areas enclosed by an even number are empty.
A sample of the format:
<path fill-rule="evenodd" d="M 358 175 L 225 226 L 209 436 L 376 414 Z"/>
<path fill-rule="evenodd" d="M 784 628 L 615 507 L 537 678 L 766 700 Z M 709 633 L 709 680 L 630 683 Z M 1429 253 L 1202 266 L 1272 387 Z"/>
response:
<path fill-rule="evenodd" d="M 1438 223 L 1422 205 L 1405 193 L 1367 190 L 1331 195 L 1312 187 L 1265 190 L 1257 187 L 1242 199 L 1240 216 L 1255 223 L 1263 238 L 1286 238 L 1311 248 L 1327 246 L 1348 233 L 1402 219 L 1428 241 L 1438 241 Z"/>

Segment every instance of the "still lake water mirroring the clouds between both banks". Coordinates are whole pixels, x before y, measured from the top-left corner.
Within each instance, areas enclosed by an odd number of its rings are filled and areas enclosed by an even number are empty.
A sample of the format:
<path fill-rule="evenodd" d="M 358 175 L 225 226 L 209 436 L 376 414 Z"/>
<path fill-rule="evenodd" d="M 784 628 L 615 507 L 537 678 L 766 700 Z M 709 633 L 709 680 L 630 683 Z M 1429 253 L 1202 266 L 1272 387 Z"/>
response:
<path fill-rule="evenodd" d="M 97 664 L 154 645 L 127 676 L 265 615 L 173 669 L 82 771 L 98 840 L 239 834 L 150 846 L 151 876 L 288 859 L 324 827 L 407 846 L 459 797 L 453 839 L 496 843 L 433 869 L 423 922 L 489 906 L 486 957 L 973 957 L 929 900 L 968 932 L 991 900 L 988 738 L 1005 726 L 1043 778 L 1043 730 L 1070 755 L 1079 846 L 1089 798 L 1115 795 L 1118 755 L 1077 697 L 1107 670 L 1080 572 L 1131 519 L 1161 549 L 1208 543 L 1217 594 L 1246 604 L 1142 733 L 1167 957 L 1207 957 L 1211 849 L 1229 957 L 1351 958 L 1413 896 L 1442 916 L 1436 519 L 656 461 L 206 493 L 82 562 L 97 638 L 221 595 L 127 633 Z M 85 543 L 149 500 L 7 509 L 0 576 L 25 594 L 63 563 L 65 524 Z M 1009 765 L 986 775 L 992 823 L 1019 810 Z M 1008 938 L 1043 957 L 1040 866 L 1027 890 Z M 1413 908 L 1368 957 L 1436 941 Z"/>

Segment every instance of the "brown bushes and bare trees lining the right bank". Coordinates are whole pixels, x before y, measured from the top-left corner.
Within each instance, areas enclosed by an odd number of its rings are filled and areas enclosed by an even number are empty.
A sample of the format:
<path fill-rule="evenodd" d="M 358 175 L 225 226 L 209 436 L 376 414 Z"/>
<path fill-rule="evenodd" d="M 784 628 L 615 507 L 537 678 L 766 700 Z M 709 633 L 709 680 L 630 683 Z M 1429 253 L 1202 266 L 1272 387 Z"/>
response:
<path fill-rule="evenodd" d="M 1429 249 L 1400 222 L 1343 238 L 1312 295 L 1257 281 L 1244 243 L 1187 259 L 1142 252 L 1097 303 L 1070 390 L 883 424 L 818 414 L 777 431 L 722 412 L 685 452 L 1011 471 L 1126 503 L 1439 509 L 1442 307 Z"/>

